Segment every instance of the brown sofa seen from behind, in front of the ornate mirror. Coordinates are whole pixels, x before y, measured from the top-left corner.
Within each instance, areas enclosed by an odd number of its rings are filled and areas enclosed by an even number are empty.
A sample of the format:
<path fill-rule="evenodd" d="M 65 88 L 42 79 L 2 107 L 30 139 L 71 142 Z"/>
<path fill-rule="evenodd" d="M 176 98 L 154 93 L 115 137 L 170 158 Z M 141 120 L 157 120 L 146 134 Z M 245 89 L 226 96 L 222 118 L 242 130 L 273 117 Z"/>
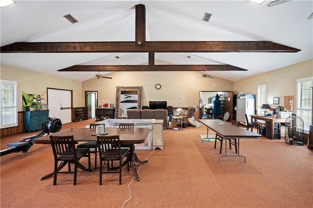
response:
<path fill-rule="evenodd" d="M 128 119 L 159 119 L 163 120 L 163 129 L 168 128 L 169 116 L 166 109 L 128 109 L 127 110 Z"/>

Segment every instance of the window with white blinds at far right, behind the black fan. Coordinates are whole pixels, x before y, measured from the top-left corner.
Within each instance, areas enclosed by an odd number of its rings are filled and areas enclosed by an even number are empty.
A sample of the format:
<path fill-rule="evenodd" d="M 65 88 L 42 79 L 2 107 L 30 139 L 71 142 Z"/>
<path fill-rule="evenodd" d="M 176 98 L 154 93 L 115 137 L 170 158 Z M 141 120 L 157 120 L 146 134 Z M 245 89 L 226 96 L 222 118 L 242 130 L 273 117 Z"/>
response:
<path fill-rule="evenodd" d="M 313 77 L 297 80 L 296 115 L 304 122 L 304 133 L 309 134 L 312 124 L 312 89 Z"/>

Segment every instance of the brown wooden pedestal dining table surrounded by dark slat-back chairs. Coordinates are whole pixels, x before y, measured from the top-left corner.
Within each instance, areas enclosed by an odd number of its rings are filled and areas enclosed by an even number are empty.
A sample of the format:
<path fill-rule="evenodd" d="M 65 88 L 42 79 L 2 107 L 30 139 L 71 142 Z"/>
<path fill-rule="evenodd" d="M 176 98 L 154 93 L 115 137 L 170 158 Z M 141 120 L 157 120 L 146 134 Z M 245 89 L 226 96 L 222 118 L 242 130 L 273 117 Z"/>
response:
<path fill-rule="evenodd" d="M 136 163 L 145 164 L 148 161 L 144 160 L 141 161 L 136 155 L 135 150 L 135 144 L 141 144 L 144 143 L 148 134 L 150 132 L 149 128 L 132 128 L 132 129 L 120 129 L 120 128 L 107 128 L 105 129 L 105 135 L 112 136 L 112 135 L 119 135 L 120 138 L 120 144 L 121 145 L 129 145 L 130 146 L 130 155 L 127 157 L 127 159 L 123 162 L 122 166 L 125 166 L 128 164 L 128 162 L 132 163 L 134 175 L 137 179 L 137 181 L 140 181 L 140 178 L 138 176 Z M 65 130 L 61 130 L 59 132 L 50 133 L 48 135 L 36 138 L 34 141 L 34 144 L 45 144 L 50 145 L 50 135 L 54 136 L 74 136 L 74 141 L 76 143 L 78 142 L 90 142 L 90 141 L 97 141 L 97 137 L 95 134 L 95 129 L 92 128 L 68 128 Z M 65 165 L 64 165 L 65 166 Z M 60 169 L 62 169 L 64 166 L 60 166 Z M 92 168 L 88 168 L 83 166 L 82 164 L 78 164 L 78 167 L 86 170 L 86 171 L 92 171 Z M 45 180 L 46 178 L 49 178 L 54 175 L 54 171 L 46 174 L 41 178 L 41 180 Z"/>

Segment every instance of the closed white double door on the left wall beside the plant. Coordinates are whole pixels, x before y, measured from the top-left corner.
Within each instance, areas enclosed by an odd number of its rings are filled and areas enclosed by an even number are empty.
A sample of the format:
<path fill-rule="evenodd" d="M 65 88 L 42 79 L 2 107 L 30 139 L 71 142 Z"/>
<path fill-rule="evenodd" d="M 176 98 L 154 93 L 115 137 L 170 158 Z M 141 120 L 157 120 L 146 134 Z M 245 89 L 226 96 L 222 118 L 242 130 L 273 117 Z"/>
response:
<path fill-rule="evenodd" d="M 58 118 L 62 124 L 71 122 L 71 91 L 48 89 L 49 117 Z"/>

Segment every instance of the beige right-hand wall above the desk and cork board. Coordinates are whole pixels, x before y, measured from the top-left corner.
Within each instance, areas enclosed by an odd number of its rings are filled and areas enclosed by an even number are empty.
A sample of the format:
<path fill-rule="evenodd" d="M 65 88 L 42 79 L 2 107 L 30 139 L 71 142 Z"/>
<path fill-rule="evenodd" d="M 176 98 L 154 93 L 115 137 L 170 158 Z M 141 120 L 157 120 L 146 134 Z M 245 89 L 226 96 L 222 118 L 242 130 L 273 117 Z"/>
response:
<path fill-rule="evenodd" d="M 284 96 L 293 95 L 296 104 L 297 79 L 307 77 L 313 77 L 313 59 L 234 82 L 233 91 L 234 94 L 257 95 L 257 86 L 266 84 L 266 103 L 276 108 L 278 105 L 284 106 Z M 273 97 L 279 97 L 279 104 L 273 104 Z"/>

